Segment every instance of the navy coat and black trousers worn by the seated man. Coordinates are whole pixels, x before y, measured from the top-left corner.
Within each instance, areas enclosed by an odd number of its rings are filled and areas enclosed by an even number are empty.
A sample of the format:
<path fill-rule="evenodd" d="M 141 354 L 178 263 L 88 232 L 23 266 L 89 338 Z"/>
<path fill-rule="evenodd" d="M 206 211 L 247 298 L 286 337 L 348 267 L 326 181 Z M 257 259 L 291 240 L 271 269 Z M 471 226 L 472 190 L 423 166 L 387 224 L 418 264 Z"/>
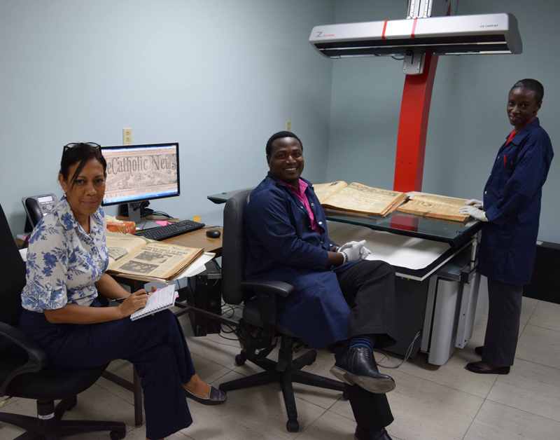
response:
<path fill-rule="evenodd" d="M 288 186 L 270 172 L 251 192 L 244 208 L 248 242 L 246 278 L 267 277 L 292 284 L 288 298 L 276 298 L 276 319 L 312 348 L 377 335 L 375 346 L 395 343 L 393 268 L 383 261 L 360 261 L 328 268 L 325 214 L 311 184 L 305 195 L 319 226 L 314 231 L 307 209 Z M 393 421 L 385 394 L 346 385 L 358 426 L 380 429 Z"/>

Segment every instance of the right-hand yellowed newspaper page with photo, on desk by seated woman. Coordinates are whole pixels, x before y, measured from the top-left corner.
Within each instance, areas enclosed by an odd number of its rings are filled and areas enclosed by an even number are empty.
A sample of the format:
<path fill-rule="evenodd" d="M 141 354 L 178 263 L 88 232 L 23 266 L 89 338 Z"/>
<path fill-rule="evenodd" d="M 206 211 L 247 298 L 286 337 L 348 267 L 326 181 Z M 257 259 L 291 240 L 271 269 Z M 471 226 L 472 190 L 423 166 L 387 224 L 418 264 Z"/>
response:
<path fill-rule="evenodd" d="M 109 266 L 111 273 L 168 280 L 204 253 L 204 249 L 151 242 Z"/>

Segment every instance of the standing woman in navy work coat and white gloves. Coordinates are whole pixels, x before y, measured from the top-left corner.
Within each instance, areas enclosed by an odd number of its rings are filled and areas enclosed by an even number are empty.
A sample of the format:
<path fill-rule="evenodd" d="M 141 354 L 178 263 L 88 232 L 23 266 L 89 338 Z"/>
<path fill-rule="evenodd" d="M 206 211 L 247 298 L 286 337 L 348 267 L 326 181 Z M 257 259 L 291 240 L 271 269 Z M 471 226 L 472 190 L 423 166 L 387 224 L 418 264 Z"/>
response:
<path fill-rule="evenodd" d="M 484 201 L 469 200 L 459 209 L 483 221 L 478 272 L 488 278 L 489 313 L 482 362 L 473 373 L 507 374 L 513 365 L 523 285 L 531 282 L 535 262 L 542 185 L 554 153 L 537 111 L 545 94 L 534 79 L 517 81 L 507 99 L 514 130 L 498 150 L 484 187 Z"/>

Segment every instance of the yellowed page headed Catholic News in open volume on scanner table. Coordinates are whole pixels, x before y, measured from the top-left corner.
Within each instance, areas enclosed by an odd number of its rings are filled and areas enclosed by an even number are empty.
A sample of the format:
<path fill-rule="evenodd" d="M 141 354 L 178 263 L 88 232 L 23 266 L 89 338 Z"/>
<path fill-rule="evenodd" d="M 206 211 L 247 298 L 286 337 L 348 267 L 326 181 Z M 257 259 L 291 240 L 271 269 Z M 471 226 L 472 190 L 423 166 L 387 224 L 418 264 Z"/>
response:
<path fill-rule="evenodd" d="M 358 214 L 384 216 L 391 208 L 394 209 L 405 198 L 407 198 L 405 193 L 373 188 L 372 186 L 352 182 L 331 195 L 323 204 L 323 207 L 357 212 Z"/>

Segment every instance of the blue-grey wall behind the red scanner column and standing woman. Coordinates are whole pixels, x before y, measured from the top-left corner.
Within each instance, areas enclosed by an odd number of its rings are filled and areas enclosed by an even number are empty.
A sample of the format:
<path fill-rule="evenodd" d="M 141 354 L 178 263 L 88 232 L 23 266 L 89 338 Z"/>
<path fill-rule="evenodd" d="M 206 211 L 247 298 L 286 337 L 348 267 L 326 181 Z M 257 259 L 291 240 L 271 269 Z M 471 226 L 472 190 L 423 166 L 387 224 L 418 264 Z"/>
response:
<path fill-rule="evenodd" d="M 337 0 L 336 22 L 406 17 L 405 0 Z M 453 8 L 456 4 L 453 2 Z M 560 31 L 556 0 L 461 0 L 458 14 L 513 13 L 521 55 L 440 57 L 426 140 L 423 191 L 482 198 L 493 158 L 512 130 L 507 93 L 521 78 L 545 86 L 540 123 L 558 153 Z M 393 188 L 398 117 L 405 76 L 391 58 L 334 60 L 327 180 Z M 543 188 L 539 239 L 560 242 L 560 167 L 556 158 Z"/>

